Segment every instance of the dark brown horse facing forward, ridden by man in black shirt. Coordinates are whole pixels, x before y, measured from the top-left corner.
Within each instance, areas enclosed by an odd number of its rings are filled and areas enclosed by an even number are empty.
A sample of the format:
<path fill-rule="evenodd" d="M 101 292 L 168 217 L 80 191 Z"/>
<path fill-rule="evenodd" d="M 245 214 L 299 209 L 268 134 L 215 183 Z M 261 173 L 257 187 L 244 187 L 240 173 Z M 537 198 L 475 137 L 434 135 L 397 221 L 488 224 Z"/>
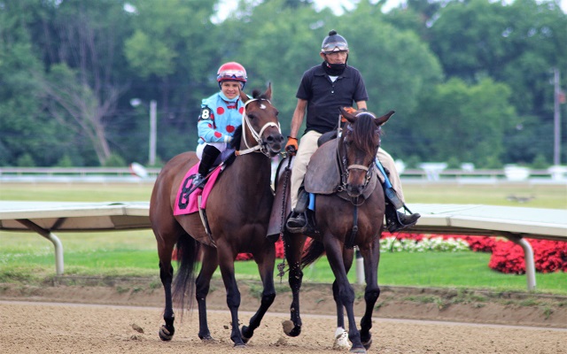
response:
<path fill-rule="evenodd" d="M 348 339 L 352 342 L 351 351 L 366 352 L 372 342 L 372 311 L 380 295 L 377 276 L 379 241 L 384 222 L 384 191 L 379 187 L 374 164 L 380 145 L 381 126 L 393 112 L 388 112 L 380 118 L 366 111 L 351 114 L 341 109 L 341 113 L 347 119 L 342 134 L 315 151 L 307 167 L 308 192 L 313 191 L 309 190 L 309 181 L 324 179 L 321 170 L 327 169 L 321 168 L 322 165 L 336 164 L 340 174 L 340 177 L 337 177 L 335 193 L 315 196 L 317 232 L 309 235 L 312 242 L 305 253 L 305 235 L 291 235 L 288 232 L 283 235 L 293 296 L 291 321 L 283 324 L 283 330 L 290 336 L 300 334 L 299 289 L 303 277 L 301 270 L 326 252 L 330 268 L 335 275 L 332 289 L 337 304 L 338 330 L 345 331 L 344 308 L 348 318 Z M 366 281 L 366 311 L 361 319 L 360 332 L 353 313 L 354 291 L 346 276 L 353 265 L 354 246 L 358 246 L 364 259 Z M 339 335 L 339 331 L 336 335 Z"/>

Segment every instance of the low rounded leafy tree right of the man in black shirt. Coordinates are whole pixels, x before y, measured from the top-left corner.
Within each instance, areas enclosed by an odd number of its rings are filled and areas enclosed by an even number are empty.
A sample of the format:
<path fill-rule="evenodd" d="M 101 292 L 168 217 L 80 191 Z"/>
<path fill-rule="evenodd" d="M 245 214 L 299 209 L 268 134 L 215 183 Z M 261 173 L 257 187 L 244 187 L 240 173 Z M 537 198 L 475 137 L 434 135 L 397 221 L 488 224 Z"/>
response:
<path fill-rule="evenodd" d="M 484 79 L 468 86 L 460 79 L 439 84 L 421 98 L 416 147 L 423 160 L 457 158 L 485 168 L 501 161 L 504 136 L 516 114 L 505 84 Z"/>

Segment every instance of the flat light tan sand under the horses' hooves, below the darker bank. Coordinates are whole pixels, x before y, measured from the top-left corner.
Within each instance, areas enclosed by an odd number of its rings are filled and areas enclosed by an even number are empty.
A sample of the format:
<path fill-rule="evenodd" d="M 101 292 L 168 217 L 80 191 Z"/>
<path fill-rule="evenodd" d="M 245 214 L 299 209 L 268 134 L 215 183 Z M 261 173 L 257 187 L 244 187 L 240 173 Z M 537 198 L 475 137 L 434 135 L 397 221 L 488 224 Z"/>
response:
<path fill-rule="evenodd" d="M 0 303 L 0 351 L 3 353 L 206 353 L 234 350 L 229 312 L 210 312 L 216 343 L 200 342 L 197 314 L 185 316 L 171 342 L 161 342 L 159 308 L 85 304 Z M 241 320 L 250 317 L 242 313 Z M 335 319 L 304 317 L 297 338 L 283 335 L 287 315 L 269 313 L 247 353 L 336 353 Z M 142 328 L 136 331 L 132 325 Z M 136 327 L 135 326 L 135 327 Z M 380 353 L 567 353 L 567 330 L 502 327 L 411 320 L 376 319 L 374 344 Z M 243 350 L 244 351 L 244 350 Z M 346 350 L 343 350 L 346 351 Z"/>

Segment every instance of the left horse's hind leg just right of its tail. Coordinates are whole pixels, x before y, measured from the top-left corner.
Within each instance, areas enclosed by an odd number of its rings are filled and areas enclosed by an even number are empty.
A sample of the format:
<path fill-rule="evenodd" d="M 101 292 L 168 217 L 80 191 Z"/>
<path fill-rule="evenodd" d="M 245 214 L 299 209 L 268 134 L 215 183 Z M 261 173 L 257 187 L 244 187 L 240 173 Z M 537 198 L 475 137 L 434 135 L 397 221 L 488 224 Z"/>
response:
<path fill-rule="evenodd" d="M 206 296 L 211 288 L 211 278 L 213 273 L 219 266 L 219 260 L 216 256 L 216 249 L 209 246 L 202 246 L 203 262 L 201 271 L 198 273 L 195 281 L 195 297 L 198 304 L 198 337 L 205 341 L 214 341 L 209 331 L 208 321 L 206 319 Z"/>

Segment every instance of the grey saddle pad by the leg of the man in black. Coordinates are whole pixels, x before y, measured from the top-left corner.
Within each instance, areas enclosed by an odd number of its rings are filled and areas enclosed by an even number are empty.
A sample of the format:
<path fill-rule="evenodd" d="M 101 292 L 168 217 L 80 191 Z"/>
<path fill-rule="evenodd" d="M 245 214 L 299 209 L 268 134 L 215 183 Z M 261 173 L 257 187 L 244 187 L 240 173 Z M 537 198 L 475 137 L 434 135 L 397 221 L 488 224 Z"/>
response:
<path fill-rule="evenodd" d="M 305 174 L 305 190 L 315 194 L 332 194 L 340 185 L 337 162 L 338 140 L 323 143 L 311 156 Z"/>

